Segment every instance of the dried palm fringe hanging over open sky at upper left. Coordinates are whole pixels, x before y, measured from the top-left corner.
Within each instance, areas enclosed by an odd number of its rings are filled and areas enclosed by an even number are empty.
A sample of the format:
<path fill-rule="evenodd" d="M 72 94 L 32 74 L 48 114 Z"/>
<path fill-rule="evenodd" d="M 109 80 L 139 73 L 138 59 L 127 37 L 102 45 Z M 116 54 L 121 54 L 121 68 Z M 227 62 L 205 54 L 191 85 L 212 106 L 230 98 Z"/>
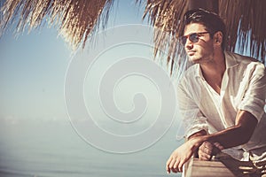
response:
<path fill-rule="evenodd" d="M 40 27 L 46 19 L 59 27 L 59 34 L 74 49 L 95 30 L 100 22 L 106 25 L 113 0 L 7 0 L 2 12 L 2 33 L 9 23 L 19 17 L 17 32 L 29 25 L 29 30 Z"/>

